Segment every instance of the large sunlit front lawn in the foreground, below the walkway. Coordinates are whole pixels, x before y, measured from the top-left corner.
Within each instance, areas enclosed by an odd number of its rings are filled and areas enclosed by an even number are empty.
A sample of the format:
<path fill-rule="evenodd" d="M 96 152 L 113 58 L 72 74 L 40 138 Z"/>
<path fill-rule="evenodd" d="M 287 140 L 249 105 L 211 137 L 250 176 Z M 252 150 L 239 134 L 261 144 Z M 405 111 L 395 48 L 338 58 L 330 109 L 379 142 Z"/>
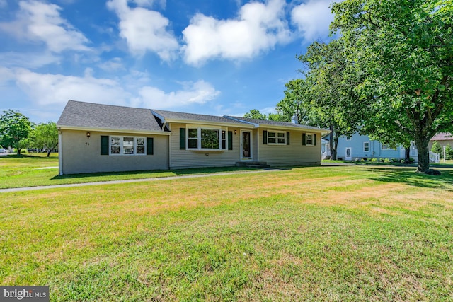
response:
<path fill-rule="evenodd" d="M 310 167 L 1 194 L 51 301 L 452 301 L 453 172 Z"/>

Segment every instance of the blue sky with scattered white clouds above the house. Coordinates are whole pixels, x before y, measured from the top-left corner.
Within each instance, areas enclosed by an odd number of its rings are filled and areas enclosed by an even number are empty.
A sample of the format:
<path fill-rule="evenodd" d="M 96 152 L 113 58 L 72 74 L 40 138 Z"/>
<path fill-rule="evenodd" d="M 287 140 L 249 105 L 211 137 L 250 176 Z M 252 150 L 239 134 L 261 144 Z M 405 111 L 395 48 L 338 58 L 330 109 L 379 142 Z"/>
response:
<path fill-rule="evenodd" d="M 273 112 L 331 0 L 0 0 L 0 111 L 57 122 L 67 100 Z"/>

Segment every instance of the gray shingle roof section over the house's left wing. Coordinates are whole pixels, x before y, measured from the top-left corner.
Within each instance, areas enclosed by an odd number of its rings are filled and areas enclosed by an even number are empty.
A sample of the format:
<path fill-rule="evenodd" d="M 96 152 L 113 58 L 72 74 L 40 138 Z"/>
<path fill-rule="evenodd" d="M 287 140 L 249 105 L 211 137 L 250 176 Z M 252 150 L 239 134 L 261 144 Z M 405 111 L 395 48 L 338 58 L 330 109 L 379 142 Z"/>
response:
<path fill-rule="evenodd" d="M 58 127 L 161 131 L 151 110 L 69 100 Z"/>

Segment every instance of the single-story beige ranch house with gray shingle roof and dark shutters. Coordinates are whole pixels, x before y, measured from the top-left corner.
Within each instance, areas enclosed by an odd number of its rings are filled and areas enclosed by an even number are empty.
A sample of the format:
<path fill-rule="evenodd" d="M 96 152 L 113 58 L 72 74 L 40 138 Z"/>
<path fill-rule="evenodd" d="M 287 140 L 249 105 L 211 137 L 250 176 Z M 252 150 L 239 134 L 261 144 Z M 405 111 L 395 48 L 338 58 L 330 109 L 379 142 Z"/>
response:
<path fill-rule="evenodd" d="M 59 174 L 264 163 L 320 165 L 320 129 L 69 100 L 57 122 Z"/>

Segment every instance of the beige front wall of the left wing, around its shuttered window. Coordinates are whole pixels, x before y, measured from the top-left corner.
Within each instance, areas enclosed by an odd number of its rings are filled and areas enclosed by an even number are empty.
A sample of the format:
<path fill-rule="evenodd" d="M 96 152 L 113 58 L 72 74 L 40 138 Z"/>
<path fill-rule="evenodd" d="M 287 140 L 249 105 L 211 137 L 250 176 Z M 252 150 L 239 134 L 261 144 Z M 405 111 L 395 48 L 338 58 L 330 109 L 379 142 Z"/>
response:
<path fill-rule="evenodd" d="M 64 174 L 117 172 L 168 169 L 168 136 L 151 134 L 124 134 L 62 129 L 62 171 Z M 154 155 L 109 156 L 101 155 L 101 135 L 154 138 Z"/>

